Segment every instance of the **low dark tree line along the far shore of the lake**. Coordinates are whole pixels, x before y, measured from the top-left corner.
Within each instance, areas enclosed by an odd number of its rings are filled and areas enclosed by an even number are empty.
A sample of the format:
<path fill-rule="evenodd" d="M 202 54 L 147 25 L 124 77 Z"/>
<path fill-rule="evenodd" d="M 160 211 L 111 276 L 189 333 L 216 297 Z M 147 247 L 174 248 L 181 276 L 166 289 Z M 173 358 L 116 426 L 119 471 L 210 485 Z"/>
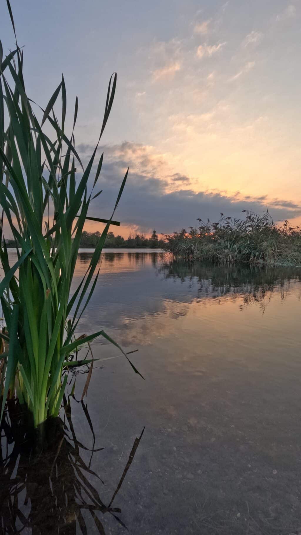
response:
<path fill-rule="evenodd" d="M 96 246 L 97 241 L 101 236 L 100 232 L 86 232 L 83 231 L 80 241 L 80 247 L 82 249 L 93 249 Z M 131 232 L 128 239 L 125 240 L 122 236 L 113 232 L 108 232 L 105 240 L 104 247 L 110 248 L 143 248 L 148 247 L 151 249 L 161 249 L 165 247 L 165 241 L 159 239 L 159 236 L 155 230 L 153 230 L 150 238 L 145 238 L 144 234 L 138 234 L 138 232 Z"/>

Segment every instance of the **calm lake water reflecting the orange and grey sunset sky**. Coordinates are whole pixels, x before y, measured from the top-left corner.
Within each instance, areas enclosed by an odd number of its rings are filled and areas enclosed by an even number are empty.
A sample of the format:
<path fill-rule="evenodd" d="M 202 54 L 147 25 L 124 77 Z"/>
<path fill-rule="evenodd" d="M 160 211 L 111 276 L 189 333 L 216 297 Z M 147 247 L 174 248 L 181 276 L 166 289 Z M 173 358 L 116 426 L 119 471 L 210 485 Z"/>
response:
<path fill-rule="evenodd" d="M 74 288 L 91 254 L 79 254 Z M 101 531 L 87 483 L 80 522 L 64 517 L 65 527 L 42 533 L 80 533 L 80 525 L 84 533 L 84 522 L 88 534 L 106 535 L 126 533 L 122 524 L 133 535 L 300 533 L 300 280 L 294 269 L 105 252 L 78 334 L 104 328 L 126 352 L 138 350 L 129 357 L 144 380 L 99 338 L 89 419 L 76 402 L 85 373 L 71 410 L 81 444 L 93 447 L 92 425 L 104 448 L 90 464 L 103 483 L 87 480 L 117 510 L 97 513 Z M 88 464 L 90 452 L 78 452 Z M 18 500 L 30 516 L 25 494 Z"/>

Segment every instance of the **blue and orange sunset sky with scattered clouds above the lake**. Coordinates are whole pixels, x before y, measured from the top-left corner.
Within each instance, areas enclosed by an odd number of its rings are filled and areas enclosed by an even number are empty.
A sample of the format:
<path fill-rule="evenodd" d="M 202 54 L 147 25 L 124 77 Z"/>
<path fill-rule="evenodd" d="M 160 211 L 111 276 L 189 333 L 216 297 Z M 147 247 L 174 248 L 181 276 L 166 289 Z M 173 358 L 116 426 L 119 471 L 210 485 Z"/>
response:
<path fill-rule="evenodd" d="M 0 38 L 14 36 L 5 0 Z M 117 72 L 103 193 L 89 215 L 118 232 L 179 231 L 242 210 L 301 223 L 301 0 L 11 0 L 27 93 L 42 107 L 64 73 L 67 126 L 88 161 Z M 101 230 L 89 222 L 86 230 Z M 114 228 L 112 230 L 115 232 Z"/>

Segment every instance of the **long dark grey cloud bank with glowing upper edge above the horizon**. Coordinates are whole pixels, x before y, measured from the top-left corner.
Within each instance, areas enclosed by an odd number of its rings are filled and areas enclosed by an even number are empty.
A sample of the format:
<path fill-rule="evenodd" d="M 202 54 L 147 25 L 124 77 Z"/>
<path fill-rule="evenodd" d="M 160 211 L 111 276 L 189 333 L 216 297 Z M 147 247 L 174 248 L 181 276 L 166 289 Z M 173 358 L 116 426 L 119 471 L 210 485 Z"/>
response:
<path fill-rule="evenodd" d="M 79 147 L 83 159 L 88 159 L 92 149 L 87 145 Z M 110 216 L 127 165 L 130 165 L 130 171 L 116 218 L 143 232 L 149 232 L 156 225 L 157 232 L 170 233 L 194 225 L 198 217 L 215 221 L 220 212 L 233 217 L 243 217 L 242 210 L 263 213 L 266 205 L 275 221 L 301 215 L 301 205 L 287 200 L 268 202 L 266 196 L 246 198 L 239 192 L 227 195 L 216 190 L 195 192 L 183 189 L 190 178 L 179 173 L 171 174 L 170 170 L 167 174 L 164 156 L 153 154 L 150 147 L 141 144 L 125 142 L 101 147 L 98 156 L 103 150 L 105 156 L 99 179 L 99 189 L 103 189 L 103 193 L 91 204 L 89 214 L 92 217 L 100 217 L 100 213 L 101 217 Z M 94 172 L 96 167 L 97 163 Z M 92 173 L 91 181 L 93 178 Z M 179 188 L 171 190 L 171 182 Z"/>

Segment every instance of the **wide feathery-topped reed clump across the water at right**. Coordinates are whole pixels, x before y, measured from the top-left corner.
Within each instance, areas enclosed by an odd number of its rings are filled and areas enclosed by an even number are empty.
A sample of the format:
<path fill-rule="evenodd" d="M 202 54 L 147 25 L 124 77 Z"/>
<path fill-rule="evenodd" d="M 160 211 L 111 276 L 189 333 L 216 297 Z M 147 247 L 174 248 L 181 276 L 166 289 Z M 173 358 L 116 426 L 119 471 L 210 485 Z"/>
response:
<path fill-rule="evenodd" d="M 244 219 L 225 217 L 217 223 L 189 227 L 165 236 L 165 250 L 175 257 L 208 262 L 247 262 L 264 265 L 301 265 L 301 231 L 287 220 L 276 225 L 268 211 L 263 216 L 243 210 Z"/>

